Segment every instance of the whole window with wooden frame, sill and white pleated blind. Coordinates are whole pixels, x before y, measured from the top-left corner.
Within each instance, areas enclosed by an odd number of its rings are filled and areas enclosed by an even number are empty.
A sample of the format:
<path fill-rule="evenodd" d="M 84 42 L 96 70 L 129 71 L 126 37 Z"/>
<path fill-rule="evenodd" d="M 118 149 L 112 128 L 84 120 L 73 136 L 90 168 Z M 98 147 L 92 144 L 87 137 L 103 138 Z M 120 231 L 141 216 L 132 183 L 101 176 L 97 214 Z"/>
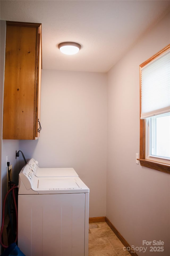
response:
<path fill-rule="evenodd" d="M 139 67 L 139 161 L 170 173 L 170 44 Z"/>

